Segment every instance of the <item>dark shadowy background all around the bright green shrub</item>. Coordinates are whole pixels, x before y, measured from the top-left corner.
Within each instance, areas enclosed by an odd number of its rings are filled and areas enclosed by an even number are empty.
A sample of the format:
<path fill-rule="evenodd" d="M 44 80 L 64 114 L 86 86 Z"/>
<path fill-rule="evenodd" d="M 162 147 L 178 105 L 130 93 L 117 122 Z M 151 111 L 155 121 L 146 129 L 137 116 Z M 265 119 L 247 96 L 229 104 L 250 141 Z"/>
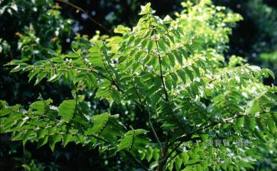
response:
<path fill-rule="evenodd" d="M 70 3 L 87 11 L 94 20 L 110 31 L 119 25 L 134 26 L 137 13 L 144 0 L 71 0 Z M 181 11 L 181 0 L 150 1 L 158 16 Z M 195 0 L 197 3 L 197 0 Z M 214 4 L 227 6 L 240 13 L 244 20 L 237 23 L 224 52 L 246 58 L 252 65 L 267 67 L 277 74 L 277 1 L 276 0 L 214 0 Z M 33 87 L 26 75 L 12 74 L 3 65 L 13 59 L 33 63 L 48 58 L 48 51 L 67 52 L 86 48 L 89 38 L 100 31 L 85 13 L 68 4 L 52 0 L 0 0 L 0 99 L 9 104 L 28 105 L 38 96 L 51 98 L 59 104 L 70 98 L 72 88 L 67 83 L 52 84 L 42 81 Z M 99 36 L 99 35 L 97 35 Z M 266 79 L 266 84 L 276 80 Z M 39 94 L 41 93 L 41 94 Z M 89 92 L 86 92 L 89 94 Z M 97 109 L 107 108 L 107 102 L 94 101 Z M 0 136 L 0 170 L 129 170 L 117 156 L 107 160 L 109 154 L 99 155 L 97 150 L 70 144 L 58 147 L 54 153 L 48 146 L 36 148 L 36 144 L 11 142 L 9 135 Z M 256 170 L 277 170 L 277 149 L 261 150 L 264 160 L 257 162 Z M 276 146 L 276 145 L 275 145 Z M 22 167 L 23 165 L 23 167 Z"/>

